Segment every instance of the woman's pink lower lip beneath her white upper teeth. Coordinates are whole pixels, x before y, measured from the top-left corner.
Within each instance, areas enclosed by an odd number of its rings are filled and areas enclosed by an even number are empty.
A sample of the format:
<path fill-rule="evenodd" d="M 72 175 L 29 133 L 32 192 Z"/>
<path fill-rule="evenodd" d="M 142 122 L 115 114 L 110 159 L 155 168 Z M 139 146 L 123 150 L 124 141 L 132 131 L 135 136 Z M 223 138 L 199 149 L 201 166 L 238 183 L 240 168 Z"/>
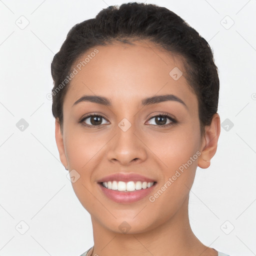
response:
<path fill-rule="evenodd" d="M 98 183 L 106 197 L 119 203 L 132 203 L 141 200 L 142 198 L 146 197 L 150 192 L 152 192 L 155 184 L 156 183 L 145 189 L 142 188 L 134 191 L 118 191 L 105 188 L 100 183 Z"/>

